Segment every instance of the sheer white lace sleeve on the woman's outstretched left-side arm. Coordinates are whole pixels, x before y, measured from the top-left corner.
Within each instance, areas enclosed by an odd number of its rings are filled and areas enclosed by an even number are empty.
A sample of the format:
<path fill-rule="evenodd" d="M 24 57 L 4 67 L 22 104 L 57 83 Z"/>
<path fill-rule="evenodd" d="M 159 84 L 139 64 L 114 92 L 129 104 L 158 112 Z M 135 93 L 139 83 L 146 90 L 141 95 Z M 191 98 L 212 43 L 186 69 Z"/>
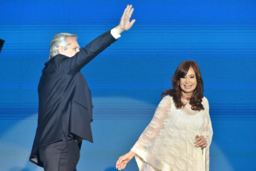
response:
<path fill-rule="evenodd" d="M 169 96 L 164 97 L 151 120 L 150 124 L 144 129 L 138 141 L 132 147 L 132 149 L 145 149 L 152 145 L 153 141 L 156 141 L 156 136 L 162 133 L 164 123 L 167 121 L 168 111 L 170 111 L 171 99 Z"/>

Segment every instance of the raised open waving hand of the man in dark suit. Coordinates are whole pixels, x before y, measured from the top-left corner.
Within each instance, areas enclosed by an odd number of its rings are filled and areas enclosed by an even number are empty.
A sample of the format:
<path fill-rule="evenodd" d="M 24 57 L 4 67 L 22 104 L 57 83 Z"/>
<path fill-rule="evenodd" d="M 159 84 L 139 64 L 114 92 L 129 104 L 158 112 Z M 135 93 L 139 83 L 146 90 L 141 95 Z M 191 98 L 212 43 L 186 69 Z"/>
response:
<path fill-rule="evenodd" d="M 135 22 L 135 19 L 132 19 L 131 22 L 129 22 L 129 19 L 132 16 L 133 13 L 133 8 L 132 5 L 128 4 L 127 8 L 125 8 L 123 16 L 121 17 L 120 23 L 117 27 L 115 27 L 115 30 L 117 31 L 117 33 L 121 34 L 124 30 L 129 30 L 130 28 L 132 28 L 133 23 Z"/>

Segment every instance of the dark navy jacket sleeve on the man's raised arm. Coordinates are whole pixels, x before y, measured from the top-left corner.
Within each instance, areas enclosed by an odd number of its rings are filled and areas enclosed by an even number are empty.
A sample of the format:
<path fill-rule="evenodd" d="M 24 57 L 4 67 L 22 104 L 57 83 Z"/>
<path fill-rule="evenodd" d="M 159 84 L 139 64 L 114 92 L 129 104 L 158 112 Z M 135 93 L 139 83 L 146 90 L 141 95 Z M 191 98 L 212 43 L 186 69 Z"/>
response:
<path fill-rule="evenodd" d="M 80 52 L 74 55 L 74 57 L 65 57 L 60 62 L 60 70 L 66 74 L 74 74 L 80 71 L 83 66 L 94 59 L 97 54 L 100 54 L 105 48 L 109 47 L 116 39 L 110 33 L 110 30 L 102 35 L 98 36 L 85 48 L 81 48 Z"/>

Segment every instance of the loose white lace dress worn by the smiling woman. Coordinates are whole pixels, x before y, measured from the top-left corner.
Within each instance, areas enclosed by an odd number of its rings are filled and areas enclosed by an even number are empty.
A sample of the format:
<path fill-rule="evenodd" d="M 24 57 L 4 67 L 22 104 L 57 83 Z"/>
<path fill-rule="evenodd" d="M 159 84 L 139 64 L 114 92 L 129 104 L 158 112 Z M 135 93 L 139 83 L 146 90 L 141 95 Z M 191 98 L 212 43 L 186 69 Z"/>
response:
<path fill-rule="evenodd" d="M 193 111 L 187 100 L 176 109 L 173 97 L 164 97 L 150 124 L 132 147 L 140 171 L 208 171 L 209 146 L 213 130 L 208 100 L 204 110 Z M 196 146 L 196 135 L 204 135 L 208 146 Z"/>

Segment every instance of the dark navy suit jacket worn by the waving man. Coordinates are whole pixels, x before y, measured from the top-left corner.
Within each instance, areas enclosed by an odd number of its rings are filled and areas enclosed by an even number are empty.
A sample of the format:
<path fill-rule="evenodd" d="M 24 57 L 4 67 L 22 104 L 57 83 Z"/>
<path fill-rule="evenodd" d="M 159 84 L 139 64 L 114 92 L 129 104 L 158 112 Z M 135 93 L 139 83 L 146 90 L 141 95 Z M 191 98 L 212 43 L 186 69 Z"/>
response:
<path fill-rule="evenodd" d="M 38 126 L 31 162 L 42 167 L 37 149 L 65 140 L 71 134 L 93 142 L 92 96 L 80 69 L 115 40 L 109 30 L 81 48 L 74 57 L 58 54 L 45 63 L 38 86 Z"/>

